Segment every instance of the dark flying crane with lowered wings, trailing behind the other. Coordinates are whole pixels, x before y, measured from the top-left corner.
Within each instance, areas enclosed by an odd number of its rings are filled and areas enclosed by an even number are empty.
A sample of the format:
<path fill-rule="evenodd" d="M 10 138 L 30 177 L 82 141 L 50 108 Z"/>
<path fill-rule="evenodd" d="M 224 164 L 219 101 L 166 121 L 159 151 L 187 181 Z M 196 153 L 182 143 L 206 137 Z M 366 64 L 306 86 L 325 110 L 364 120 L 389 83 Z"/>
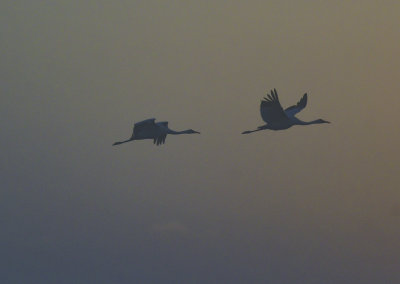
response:
<path fill-rule="evenodd" d="M 113 146 L 120 145 L 122 143 L 130 142 L 133 140 L 143 140 L 143 139 L 153 139 L 154 144 L 161 145 L 165 143 L 167 134 L 179 135 L 179 134 L 200 133 L 198 131 L 194 131 L 193 129 L 174 131 L 168 128 L 167 121 L 155 123 L 155 120 L 156 120 L 155 118 L 150 118 L 135 123 L 133 126 L 133 133 L 131 138 L 125 141 L 115 142 Z"/>

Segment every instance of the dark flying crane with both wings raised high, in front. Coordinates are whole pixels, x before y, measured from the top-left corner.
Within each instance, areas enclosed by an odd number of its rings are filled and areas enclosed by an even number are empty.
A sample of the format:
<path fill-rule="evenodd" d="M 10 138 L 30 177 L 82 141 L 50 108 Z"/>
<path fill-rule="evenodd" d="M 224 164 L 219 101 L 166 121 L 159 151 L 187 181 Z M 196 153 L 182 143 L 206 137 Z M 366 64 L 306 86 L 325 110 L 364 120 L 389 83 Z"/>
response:
<path fill-rule="evenodd" d="M 307 93 L 303 95 L 300 101 L 293 106 L 283 110 L 281 103 L 279 102 L 278 93 L 276 89 L 271 90 L 271 94 L 267 94 L 264 100 L 261 101 L 260 113 L 262 119 L 267 123 L 265 125 L 257 127 L 256 130 L 248 130 L 242 132 L 242 134 L 248 134 L 260 130 L 271 129 L 271 130 L 283 130 L 292 127 L 293 125 L 309 125 L 319 123 L 330 123 L 323 119 L 316 119 L 313 121 L 302 121 L 295 115 L 303 110 L 307 105 Z"/>

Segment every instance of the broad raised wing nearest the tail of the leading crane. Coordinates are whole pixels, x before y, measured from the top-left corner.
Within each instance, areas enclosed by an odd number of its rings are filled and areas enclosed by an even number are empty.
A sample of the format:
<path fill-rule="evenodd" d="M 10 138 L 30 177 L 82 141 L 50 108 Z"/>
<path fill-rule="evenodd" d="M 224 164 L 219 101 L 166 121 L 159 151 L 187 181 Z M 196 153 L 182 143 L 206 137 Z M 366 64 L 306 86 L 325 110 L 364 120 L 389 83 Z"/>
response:
<path fill-rule="evenodd" d="M 267 97 L 261 101 L 260 113 L 266 123 L 282 122 L 288 119 L 275 89 L 271 90 L 271 94 L 267 94 Z"/>

